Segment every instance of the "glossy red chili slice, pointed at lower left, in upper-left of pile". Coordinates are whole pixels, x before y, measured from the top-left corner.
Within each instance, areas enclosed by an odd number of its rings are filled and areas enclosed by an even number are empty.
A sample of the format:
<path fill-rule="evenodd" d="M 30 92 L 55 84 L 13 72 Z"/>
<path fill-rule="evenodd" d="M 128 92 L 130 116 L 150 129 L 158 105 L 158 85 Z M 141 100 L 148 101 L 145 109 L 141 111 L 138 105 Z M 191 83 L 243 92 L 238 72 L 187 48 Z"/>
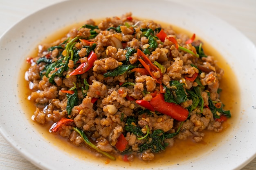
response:
<path fill-rule="evenodd" d="M 93 66 L 94 61 L 97 60 L 97 55 L 93 51 L 91 51 L 87 59 L 87 62 L 81 63 L 75 70 L 68 74 L 67 77 L 72 75 L 83 74 L 90 70 L 90 68 L 92 68 Z"/>

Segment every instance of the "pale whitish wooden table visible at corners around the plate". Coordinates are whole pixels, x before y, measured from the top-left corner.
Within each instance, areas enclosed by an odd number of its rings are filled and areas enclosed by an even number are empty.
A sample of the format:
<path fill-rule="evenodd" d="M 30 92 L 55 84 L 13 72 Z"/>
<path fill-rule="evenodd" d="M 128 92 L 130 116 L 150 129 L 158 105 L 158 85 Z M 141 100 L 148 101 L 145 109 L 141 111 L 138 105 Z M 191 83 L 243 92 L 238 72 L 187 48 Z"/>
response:
<path fill-rule="evenodd" d="M 0 0 L 0 35 L 22 18 L 63 0 Z M 172 0 L 197 7 L 228 22 L 256 44 L 256 0 Z M 0 104 L 1 105 L 1 104 Z M 0 135 L 1 170 L 36 170 Z M 256 170 L 256 159 L 242 170 Z"/>

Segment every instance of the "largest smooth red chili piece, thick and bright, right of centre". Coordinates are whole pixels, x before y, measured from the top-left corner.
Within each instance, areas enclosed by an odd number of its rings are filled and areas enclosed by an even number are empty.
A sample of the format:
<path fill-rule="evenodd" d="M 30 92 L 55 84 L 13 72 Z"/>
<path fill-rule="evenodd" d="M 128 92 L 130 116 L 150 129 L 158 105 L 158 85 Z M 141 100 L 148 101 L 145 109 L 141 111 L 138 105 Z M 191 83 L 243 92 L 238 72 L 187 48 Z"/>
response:
<path fill-rule="evenodd" d="M 157 94 L 157 96 L 152 98 L 149 103 L 155 109 L 155 111 L 169 115 L 178 121 L 184 121 L 189 116 L 189 111 L 187 109 L 184 109 L 175 103 L 164 101 L 164 94 L 162 93 Z"/>

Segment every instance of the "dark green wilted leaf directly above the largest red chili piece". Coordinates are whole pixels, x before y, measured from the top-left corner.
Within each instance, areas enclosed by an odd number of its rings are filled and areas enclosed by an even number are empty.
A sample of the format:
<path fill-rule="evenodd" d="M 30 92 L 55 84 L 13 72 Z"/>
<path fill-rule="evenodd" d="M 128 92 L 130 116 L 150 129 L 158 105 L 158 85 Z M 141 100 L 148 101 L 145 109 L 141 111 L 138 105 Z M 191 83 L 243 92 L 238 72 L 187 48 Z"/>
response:
<path fill-rule="evenodd" d="M 182 102 L 185 102 L 187 99 L 187 95 L 182 85 L 183 83 L 180 83 L 176 80 L 170 81 L 170 86 L 173 88 L 165 88 L 166 93 L 164 94 L 164 100 L 166 102 L 173 102 L 178 105 Z"/>

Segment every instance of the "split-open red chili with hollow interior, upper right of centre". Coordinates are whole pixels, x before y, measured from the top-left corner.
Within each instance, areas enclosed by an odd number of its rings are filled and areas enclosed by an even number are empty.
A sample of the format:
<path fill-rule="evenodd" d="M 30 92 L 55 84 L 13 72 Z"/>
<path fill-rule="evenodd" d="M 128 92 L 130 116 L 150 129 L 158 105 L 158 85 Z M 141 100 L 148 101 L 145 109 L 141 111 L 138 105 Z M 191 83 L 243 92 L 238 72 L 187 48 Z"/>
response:
<path fill-rule="evenodd" d="M 155 78 L 156 82 L 159 84 L 162 84 L 162 77 L 163 74 L 161 70 L 155 66 L 149 59 L 148 57 L 141 51 L 137 50 L 137 57 L 139 62 L 144 66 L 144 68 L 147 70 L 147 72 L 150 74 L 151 77 Z M 159 72 L 160 77 L 156 78 L 153 72 Z"/>

